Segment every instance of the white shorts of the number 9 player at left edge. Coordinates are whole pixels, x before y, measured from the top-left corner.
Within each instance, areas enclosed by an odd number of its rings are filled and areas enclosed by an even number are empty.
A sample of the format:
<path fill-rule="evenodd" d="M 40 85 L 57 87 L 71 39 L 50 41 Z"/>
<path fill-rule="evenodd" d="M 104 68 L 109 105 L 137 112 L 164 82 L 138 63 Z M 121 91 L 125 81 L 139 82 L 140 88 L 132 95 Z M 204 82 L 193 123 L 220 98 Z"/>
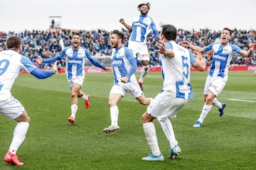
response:
<path fill-rule="evenodd" d="M 10 96 L 5 101 L 0 101 L 0 113 L 6 118 L 16 119 L 22 115 L 23 111 L 25 111 L 24 107 L 14 96 Z"/>

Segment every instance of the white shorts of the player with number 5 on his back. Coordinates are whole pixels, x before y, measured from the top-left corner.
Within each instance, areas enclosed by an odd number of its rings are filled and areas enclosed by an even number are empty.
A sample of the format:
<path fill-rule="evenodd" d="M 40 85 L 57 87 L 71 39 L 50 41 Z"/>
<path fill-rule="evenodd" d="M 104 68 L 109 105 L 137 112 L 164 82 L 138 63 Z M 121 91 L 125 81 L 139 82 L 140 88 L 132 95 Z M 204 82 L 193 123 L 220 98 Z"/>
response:
<path fill-rule="evenodd" d="M 188 100 L 186 99 L 169 96 L 162 92 L 151 101 L 146 112 L 154 118 L 157 118 L 157 120 L 164 121 L 167 118 L 175 118 L 178 111 L 180 111 L 187 102 Z"/>

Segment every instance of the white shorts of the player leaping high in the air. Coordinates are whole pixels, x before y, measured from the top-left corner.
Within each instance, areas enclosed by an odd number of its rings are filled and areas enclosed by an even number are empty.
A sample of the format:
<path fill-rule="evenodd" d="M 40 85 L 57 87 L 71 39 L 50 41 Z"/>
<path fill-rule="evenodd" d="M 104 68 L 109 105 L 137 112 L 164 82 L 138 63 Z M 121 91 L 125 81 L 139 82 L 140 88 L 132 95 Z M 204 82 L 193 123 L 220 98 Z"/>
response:
<path fill-rule="evenodd" d="M 149 50 L 146 47 L 146 44 L 143 42 L 129 41 L 128 48 L 132 49 L 134 57 L 137 57 L 137 60 L 149 61 Z"/>

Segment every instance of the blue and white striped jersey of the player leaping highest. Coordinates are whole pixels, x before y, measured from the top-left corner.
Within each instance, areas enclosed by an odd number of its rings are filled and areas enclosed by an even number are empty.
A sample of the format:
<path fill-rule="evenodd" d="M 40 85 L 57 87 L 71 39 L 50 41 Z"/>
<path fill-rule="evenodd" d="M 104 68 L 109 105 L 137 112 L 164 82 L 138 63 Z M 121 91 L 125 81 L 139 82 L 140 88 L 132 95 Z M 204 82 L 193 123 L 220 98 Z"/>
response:
<path fill-rule="evenodd" d="M 156 30 L 156 23 L 154 23 L 152 18 L 144 15 L 137 16 L 132 21 L 132 34 L 129 40 L 144 42 L 146 44 L 146 37 L 151 30 L 155 37 L 159 35 Z"/>

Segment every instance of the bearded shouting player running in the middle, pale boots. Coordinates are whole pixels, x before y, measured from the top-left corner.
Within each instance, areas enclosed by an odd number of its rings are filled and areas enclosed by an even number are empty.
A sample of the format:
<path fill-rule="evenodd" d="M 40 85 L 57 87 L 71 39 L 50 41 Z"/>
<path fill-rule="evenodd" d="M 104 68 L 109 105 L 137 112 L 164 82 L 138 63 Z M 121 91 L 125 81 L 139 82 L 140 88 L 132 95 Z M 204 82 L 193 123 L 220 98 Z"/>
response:
<path fill-rule="evenodd" d="M 149 105 L 150 98 L 146 98 L 139 88 L 134 73 L 137 70 L 137 61 L 132 50 L 123 45 L 124 35 L 119 30 L 114 30 L 110 37 L 112 44 L 112 69 L 114 72 L 114 85 L 110 90 L 108 104 L 110 106 L 111 125 L 103 132 L 109 133 L 119 130 L 117 103 L 129 92 L 142 105 Z"/>

